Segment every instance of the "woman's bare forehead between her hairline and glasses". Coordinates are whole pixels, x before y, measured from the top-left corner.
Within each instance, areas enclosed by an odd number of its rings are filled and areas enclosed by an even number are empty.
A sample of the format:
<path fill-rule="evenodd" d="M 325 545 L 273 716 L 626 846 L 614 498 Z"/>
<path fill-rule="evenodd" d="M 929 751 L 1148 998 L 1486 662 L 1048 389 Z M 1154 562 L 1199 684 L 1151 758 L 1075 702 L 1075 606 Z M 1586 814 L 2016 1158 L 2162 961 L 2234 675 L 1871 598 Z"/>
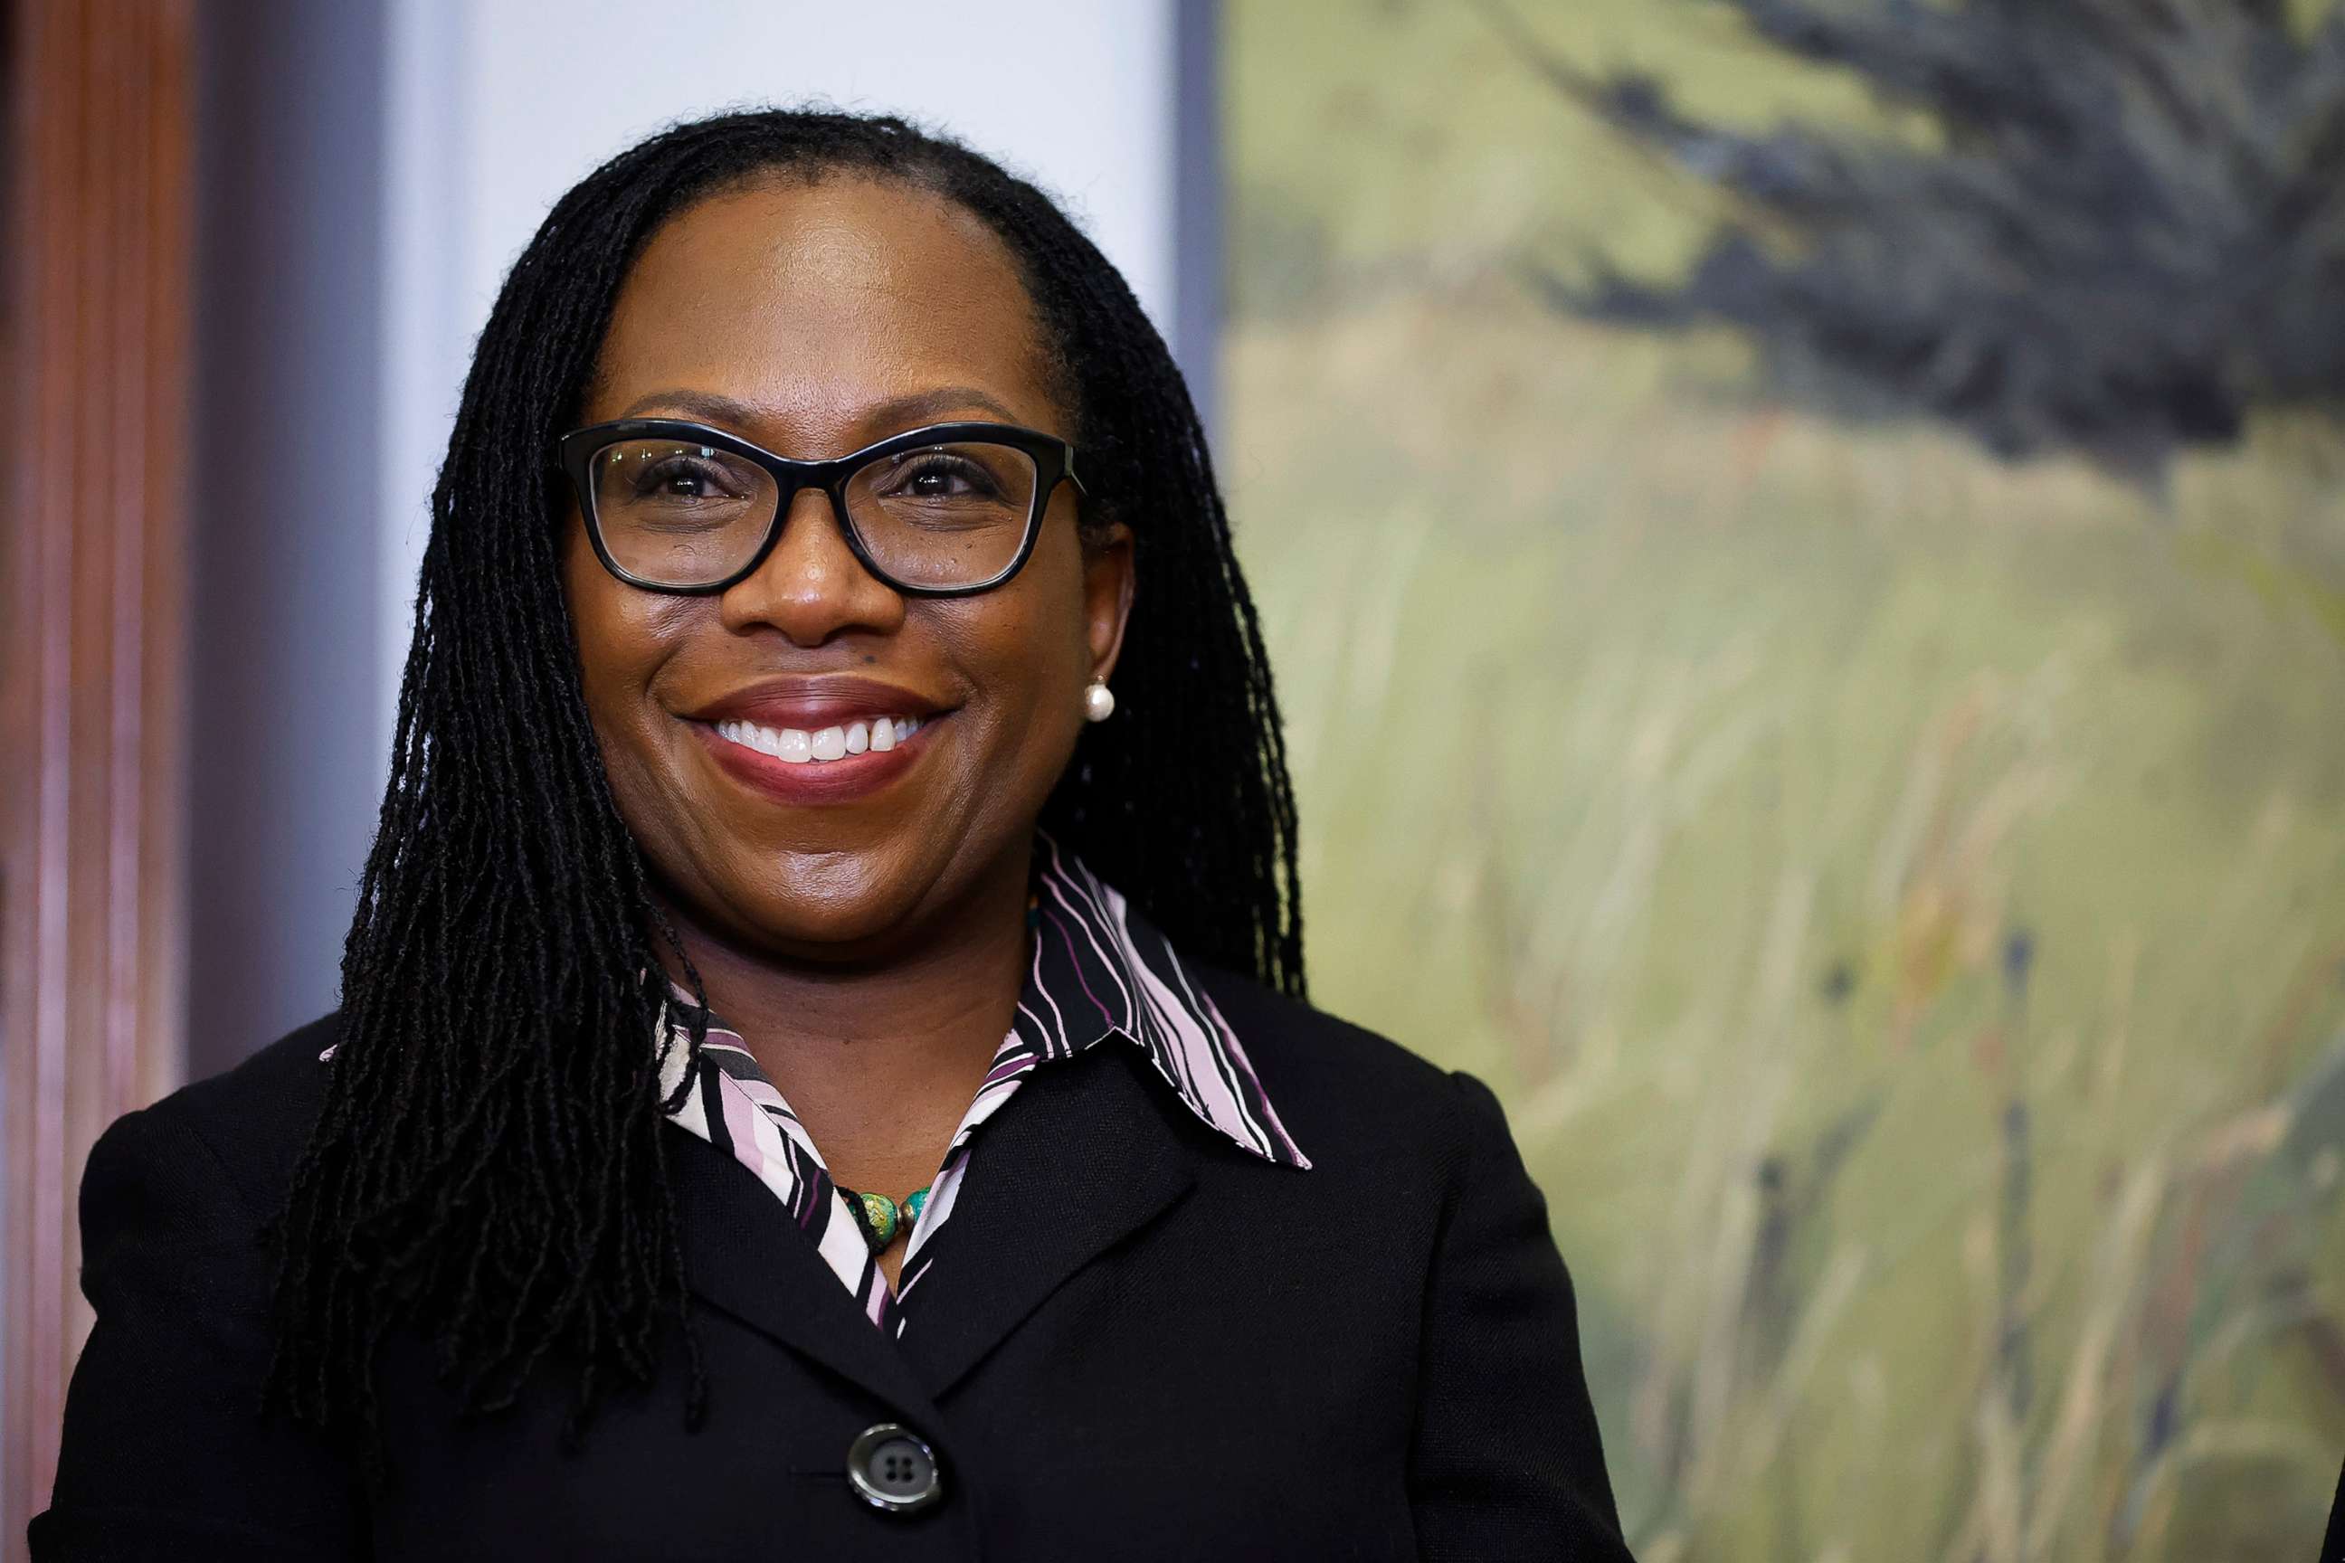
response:
<path fill-rule="evenodd" d="M 1008 248 L 952 202 L 893 183 L 760 183 L 699 202 L 643 248 L 603 337 L 586 422 L 673 391 L 755 410 L 748 438 L 840 455 L 875 410 L 978 391 L 1062 431 Z M 985 417 L 987 412 L 971 412 Z"/>

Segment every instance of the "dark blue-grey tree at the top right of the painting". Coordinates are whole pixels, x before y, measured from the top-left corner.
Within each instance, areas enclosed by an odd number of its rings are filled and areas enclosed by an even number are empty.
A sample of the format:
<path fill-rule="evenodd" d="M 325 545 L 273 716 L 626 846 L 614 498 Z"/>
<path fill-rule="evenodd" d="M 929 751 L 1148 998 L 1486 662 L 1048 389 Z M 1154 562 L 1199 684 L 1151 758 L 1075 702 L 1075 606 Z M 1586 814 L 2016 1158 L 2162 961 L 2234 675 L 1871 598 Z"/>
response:
<path fill-rule="evenodd" d="M 1726 2 L 1902 115 L 1726 129 L 1651 77 L 1581 73 L 1491 5 L 1550 82 L 1731 197 L 1684 281 L 1543 277 L 1557 302 L 1646 328 L 1724 321 L 1789 396 L 2141 478 L 2237 438 L 2249 408 L 2345 396 L 2345 12 Z"/>

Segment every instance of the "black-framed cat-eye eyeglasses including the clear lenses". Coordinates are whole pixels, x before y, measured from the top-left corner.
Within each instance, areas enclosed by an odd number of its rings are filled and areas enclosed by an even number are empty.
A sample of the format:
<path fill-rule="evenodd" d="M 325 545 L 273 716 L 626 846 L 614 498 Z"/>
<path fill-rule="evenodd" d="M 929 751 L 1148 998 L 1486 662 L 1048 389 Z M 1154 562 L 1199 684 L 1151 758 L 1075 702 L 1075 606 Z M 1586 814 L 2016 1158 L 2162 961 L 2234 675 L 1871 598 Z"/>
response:
<path fill-rule="evenodd" d="M 1013 424 L 929 424 L 835 462 L 790 462 L 722 429 L 631 417 L 556 445 L 603 567 L 628 586 L 720 593 L 781 537 L 802 487 L 830 494 L 856 560 L 900 593 L 966 598 L 1034 553 L 1074 445 Z"/>

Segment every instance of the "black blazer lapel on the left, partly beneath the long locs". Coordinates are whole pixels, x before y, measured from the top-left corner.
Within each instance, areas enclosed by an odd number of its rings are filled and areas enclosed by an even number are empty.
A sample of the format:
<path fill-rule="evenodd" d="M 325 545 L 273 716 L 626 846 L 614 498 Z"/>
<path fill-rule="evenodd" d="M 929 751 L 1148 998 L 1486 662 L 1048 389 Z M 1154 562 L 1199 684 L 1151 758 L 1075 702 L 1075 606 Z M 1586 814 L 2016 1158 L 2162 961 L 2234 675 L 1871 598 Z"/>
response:
<path fill-rule="evenodd" d="M 772 1190 L 699 1134 L 678 1125 L 666 1132 L 694 1296 L 900 1406 L 910 1420 L 940 1425 L 926 1415 L 933 1404 L 898 1345 L 863 1317 Z"/>

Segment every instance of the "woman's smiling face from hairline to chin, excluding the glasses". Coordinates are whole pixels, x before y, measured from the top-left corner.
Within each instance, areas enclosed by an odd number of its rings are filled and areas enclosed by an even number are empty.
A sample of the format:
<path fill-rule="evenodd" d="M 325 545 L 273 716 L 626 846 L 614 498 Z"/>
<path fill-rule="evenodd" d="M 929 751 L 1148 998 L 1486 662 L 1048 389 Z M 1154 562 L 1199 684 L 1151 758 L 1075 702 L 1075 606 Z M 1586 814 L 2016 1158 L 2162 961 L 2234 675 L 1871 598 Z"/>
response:
<path fill-rule="evenodd" d="M 628 274 L 582 422 L 685 417 L 840 457 L 936 422 L 1072 438 L 1008 251 L 961 209 L 861 178 L 776 183 L 671 220 Z M 1083 548 L 1060 485 L 1034 555 L 973 598 L 905 598 L 804 490 L 718 595 L 607 574 L 572 511 L 563 586 L 619 813 L 689 926 L 811 961 L 882 956 L 1025 872 L 1027 839 L 1114 666 L 1130 541 Z M 793 764 L 739 722 L 891 752 Z M 718 731 L 725 726 L 725 731 Z M 757 733 L 748 733 L 753 740 Z M 835 748 L 835 745 L 832 745 Z"/>

